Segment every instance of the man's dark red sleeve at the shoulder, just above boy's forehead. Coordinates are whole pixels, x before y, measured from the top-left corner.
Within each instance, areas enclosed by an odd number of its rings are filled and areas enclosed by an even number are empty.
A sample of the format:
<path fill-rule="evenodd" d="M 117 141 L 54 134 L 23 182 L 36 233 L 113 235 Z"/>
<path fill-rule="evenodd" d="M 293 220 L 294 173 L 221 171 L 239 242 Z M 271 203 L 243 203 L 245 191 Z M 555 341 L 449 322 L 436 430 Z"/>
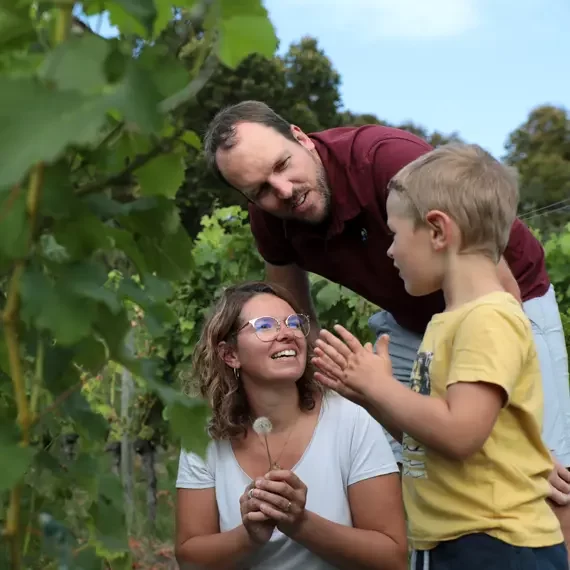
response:
<path fill-rule="evenodd" d="M 388 198 L 388 183 L 410 162 L 432 150 L 432 147 L 419 137 L 391 137 L 379 141 L 370 149 L 369 160 L 376 195 L 383 201 Z"/>

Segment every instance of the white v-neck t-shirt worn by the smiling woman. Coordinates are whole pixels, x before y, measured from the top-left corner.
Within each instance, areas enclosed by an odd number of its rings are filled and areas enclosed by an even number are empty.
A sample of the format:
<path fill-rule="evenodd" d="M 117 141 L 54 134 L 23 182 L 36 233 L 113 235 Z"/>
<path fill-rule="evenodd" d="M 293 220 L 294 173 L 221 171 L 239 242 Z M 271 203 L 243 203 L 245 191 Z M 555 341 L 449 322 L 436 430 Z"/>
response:
<path fill-rule="evenodd" d="M 292 471 L 307 486 L 307 510 L 352 526 L 347 488 L 364 479 L 395 473 L 398 467 L 384 431 L 368 412 L 328 393 L 313 437 Z M 176 487 L 215 487 L 221 532 L 242 524 L 239 498 L 250 483 L 227 440 L 210 442 L 206 461 L 194 453 L 180 453 Z M 251 570 L 334 568 L 277 529 L 246 565 Z"/>

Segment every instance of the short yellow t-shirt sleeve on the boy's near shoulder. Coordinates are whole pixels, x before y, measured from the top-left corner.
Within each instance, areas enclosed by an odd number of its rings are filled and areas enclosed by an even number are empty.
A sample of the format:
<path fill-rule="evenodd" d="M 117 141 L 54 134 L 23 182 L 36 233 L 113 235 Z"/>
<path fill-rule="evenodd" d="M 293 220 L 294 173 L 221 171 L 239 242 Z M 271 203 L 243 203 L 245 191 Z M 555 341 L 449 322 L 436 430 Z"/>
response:
<path fill-rule="evenodd" d="M 475 307 L 462 320 L 453 339 L 447 386 L 488 382 L 510 397 L 531 346 L 532 332 L 523 315 L 498 305 Z"/>

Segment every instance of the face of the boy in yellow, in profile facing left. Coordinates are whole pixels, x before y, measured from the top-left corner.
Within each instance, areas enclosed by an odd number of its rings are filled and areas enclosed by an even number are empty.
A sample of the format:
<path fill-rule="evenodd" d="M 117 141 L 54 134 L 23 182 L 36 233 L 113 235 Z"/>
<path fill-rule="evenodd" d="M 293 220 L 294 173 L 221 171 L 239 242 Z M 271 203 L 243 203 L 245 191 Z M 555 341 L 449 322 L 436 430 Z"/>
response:
<path fill-rule="evenodd" d="M 387 255 L 400 272 L 406 291 L 414 297 L 438 291 L 443 282 L 443 259 L 434 248 L 433 230 L 427 225 L 414 227 L 409 206 L 395 192 L 388 195 L 386 207 L 388 227 L 394 234 Z"/>

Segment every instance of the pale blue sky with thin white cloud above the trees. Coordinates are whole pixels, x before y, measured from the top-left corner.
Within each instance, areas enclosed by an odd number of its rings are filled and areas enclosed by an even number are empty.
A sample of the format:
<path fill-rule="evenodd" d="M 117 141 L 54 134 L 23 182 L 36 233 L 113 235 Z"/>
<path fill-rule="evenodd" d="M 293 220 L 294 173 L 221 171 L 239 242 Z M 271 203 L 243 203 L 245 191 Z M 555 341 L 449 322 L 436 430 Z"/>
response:
<path fill-rule="evenodd" d="M 570 109 L 569 0 L 264 3 L 280 51 L 318 39 L 352 112 L 456 131 L 501 158 L 534 107 Z"/>

